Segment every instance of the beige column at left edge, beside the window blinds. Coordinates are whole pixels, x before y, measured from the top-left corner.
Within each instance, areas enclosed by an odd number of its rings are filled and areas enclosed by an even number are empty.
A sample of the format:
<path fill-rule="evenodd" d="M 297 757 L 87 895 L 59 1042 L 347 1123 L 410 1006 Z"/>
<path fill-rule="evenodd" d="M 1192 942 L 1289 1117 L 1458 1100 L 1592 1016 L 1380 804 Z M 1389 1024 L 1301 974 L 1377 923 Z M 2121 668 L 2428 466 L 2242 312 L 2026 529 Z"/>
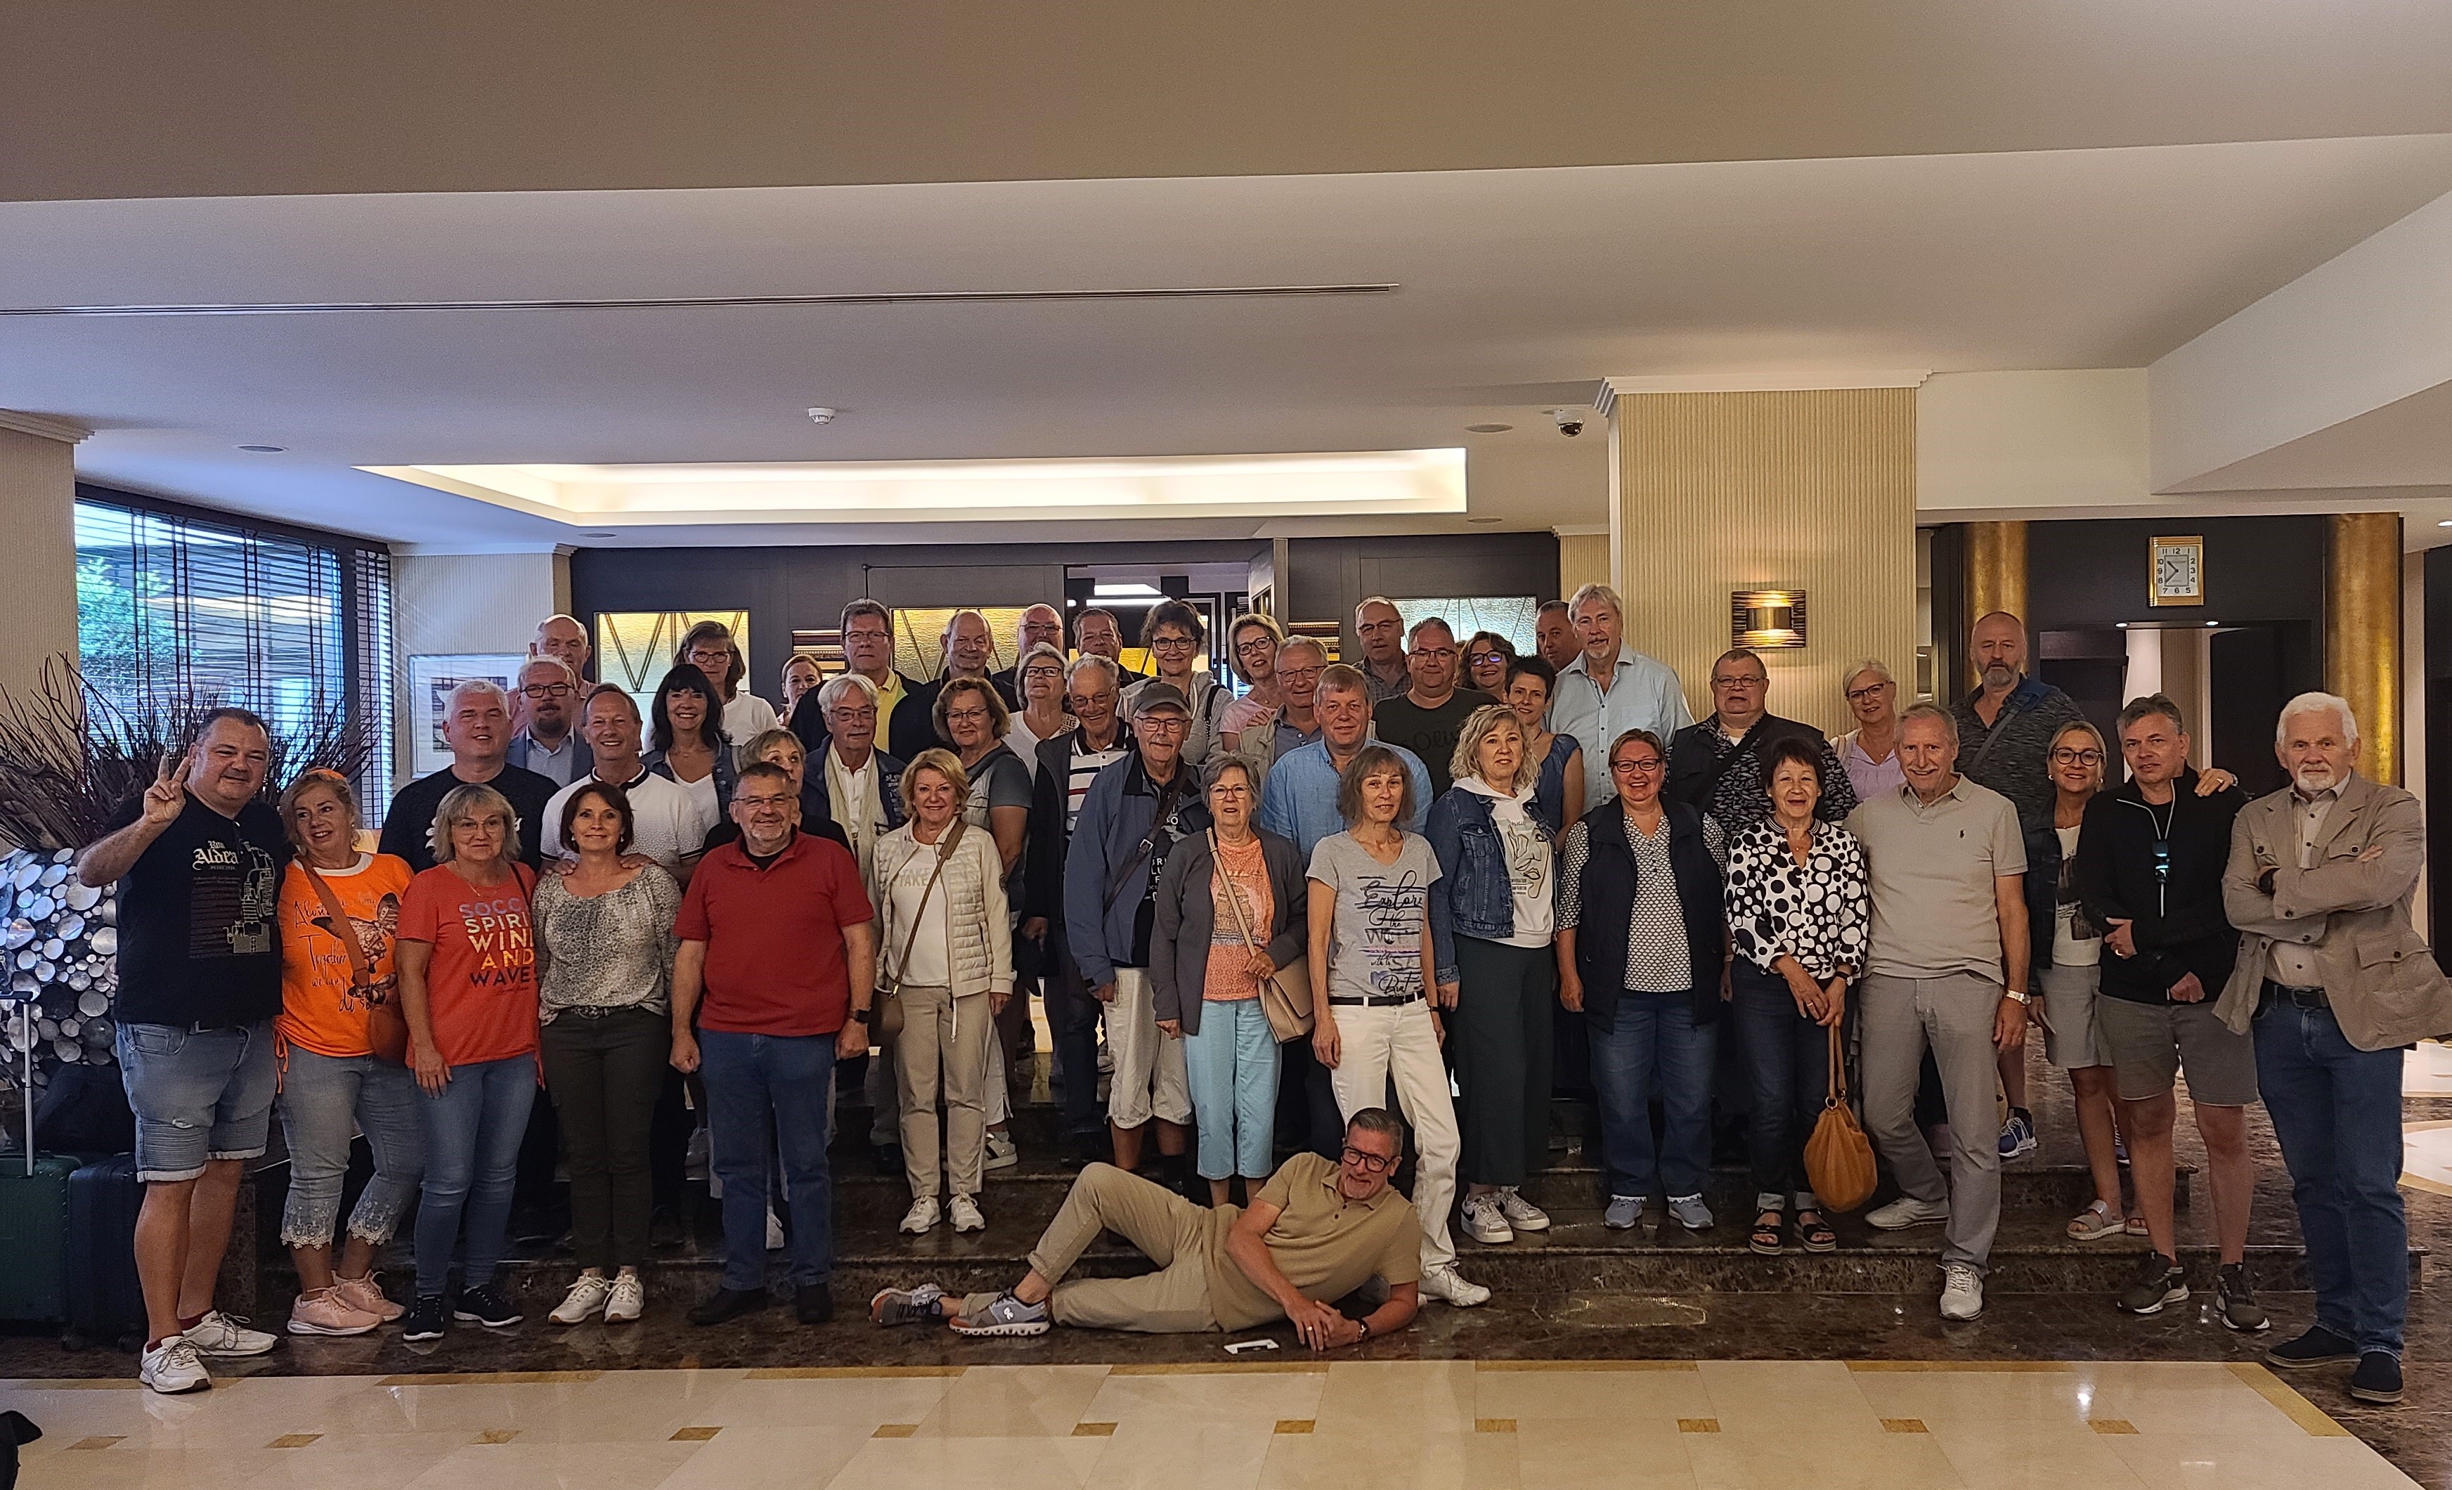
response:
<path fill-rule="evenodd" d="M 10 645 L 0 649 L 0 689 L 27 694 L 44 662 L 76 662 L 76 444 L 86 429 L 42 414 L 0 409 L 0 596 L 7 596 Z"/>

